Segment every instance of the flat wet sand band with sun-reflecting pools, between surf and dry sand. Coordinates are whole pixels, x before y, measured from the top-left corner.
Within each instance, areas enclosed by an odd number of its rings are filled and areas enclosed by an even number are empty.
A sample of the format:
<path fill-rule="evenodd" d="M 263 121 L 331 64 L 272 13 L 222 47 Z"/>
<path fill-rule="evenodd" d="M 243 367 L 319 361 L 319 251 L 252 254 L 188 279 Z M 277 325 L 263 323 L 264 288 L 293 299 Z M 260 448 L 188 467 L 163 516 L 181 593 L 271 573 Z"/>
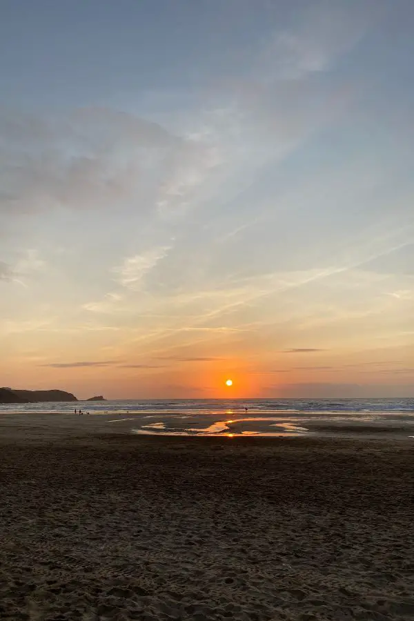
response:
<path fill-rule="evenodd" d="M 412 413 L 297 413 L 269 414 L 263 417 L 230 415 L 221 412 L 142 413 L 110 412 L 83 416 L 50 411 L 48 413 L 0 413 L 0 436 L 10 440 L 21 437 L 26 442 L 39 439 L 53 440 L 79 434 L 135 433 L 137 435 L 260 435 L 263 437 L 348 437 L 365 440 L 406 440 L 413 443 L 414 417 Z M 231 416 L 229 419 L 228 417 Z"/>

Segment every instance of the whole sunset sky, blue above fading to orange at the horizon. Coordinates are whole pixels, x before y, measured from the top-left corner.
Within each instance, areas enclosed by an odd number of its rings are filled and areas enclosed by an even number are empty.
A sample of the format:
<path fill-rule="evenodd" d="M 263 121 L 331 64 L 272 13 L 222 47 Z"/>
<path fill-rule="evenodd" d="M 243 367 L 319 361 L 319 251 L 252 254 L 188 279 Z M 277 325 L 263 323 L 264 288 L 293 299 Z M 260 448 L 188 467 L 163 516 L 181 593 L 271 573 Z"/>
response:
<path fill-rule="evenodd" d="M 413 27 L 1 0 L 0 385 L 413 396 Z"/>

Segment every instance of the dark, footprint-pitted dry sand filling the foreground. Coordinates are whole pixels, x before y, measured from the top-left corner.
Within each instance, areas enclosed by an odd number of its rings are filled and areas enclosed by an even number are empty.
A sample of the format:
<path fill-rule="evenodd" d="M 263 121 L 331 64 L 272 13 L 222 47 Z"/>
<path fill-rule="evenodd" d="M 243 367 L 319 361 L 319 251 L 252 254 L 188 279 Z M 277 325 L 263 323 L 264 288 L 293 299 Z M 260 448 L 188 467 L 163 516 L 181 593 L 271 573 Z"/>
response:
<path fill-rule="evenodd" d="M 0 422 L 1 620 L 414 618 L 412 441 L 67 424 Z"/>

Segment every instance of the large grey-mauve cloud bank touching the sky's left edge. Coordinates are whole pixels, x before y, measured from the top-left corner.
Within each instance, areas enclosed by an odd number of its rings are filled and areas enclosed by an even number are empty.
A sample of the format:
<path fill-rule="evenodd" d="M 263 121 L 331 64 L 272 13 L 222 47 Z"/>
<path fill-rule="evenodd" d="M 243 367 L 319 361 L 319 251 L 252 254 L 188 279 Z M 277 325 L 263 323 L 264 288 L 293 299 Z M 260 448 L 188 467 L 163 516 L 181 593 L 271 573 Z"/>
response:
<path fill-rule="evenodd" d="M 0 135 L 0 214 L 6 217 L 59 205 L 106 208 L 131 198 L 146 187 L 148 161 L 179 143 L 159 124 L 108 108 L 81 108 L 53 121 L 0 110 Z"/>

